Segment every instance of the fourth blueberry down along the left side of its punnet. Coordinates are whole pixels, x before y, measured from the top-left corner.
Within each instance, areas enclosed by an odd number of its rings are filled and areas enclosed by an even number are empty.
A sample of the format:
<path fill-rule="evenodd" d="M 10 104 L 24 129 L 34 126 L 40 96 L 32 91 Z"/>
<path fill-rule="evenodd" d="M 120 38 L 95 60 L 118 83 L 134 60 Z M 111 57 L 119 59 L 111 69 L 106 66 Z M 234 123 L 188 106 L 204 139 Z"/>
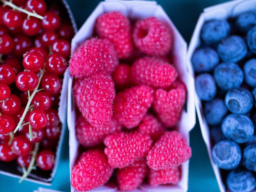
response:
<path fill-rule="evenodd" d="M 204 115 L 209 125 L 221 124 L 227 113 L 228 109 L 222 99 L 216 98 L 204 105 Z"/>

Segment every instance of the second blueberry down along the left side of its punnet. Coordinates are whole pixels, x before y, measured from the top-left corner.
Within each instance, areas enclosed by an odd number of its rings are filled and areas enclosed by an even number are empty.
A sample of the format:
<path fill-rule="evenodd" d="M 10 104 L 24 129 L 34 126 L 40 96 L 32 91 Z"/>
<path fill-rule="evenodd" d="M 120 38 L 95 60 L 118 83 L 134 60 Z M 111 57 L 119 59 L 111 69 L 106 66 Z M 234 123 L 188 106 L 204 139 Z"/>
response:
<path fill-rule="evenodd" d="M 210 47 L 199 48 L 192 56 L 192 64 L 197 73 L 211 72 L 218 63 L 218 53 Z"/>

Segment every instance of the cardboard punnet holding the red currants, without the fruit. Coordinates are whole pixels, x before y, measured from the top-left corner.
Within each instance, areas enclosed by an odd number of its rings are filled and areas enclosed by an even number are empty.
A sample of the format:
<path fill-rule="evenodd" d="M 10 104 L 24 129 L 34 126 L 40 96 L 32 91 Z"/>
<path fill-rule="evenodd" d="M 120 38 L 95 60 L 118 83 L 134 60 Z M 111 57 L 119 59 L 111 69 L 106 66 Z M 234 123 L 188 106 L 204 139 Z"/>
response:
<path fill-rule="evenodd" d="M 63 8 L 63 10 L 66 10 L 65 14 L 68 18 L 70 18 L 70 22 L 72 23 L 74 32 L 76 32 L 77 31 L 76 23 L 74 21 L 74 17 L 72 15 L 72 12 L 71 12 L 70 7 L 69 7 L 68 3 L 66 2 L 66 0 L 54 0 L 54 1 L 46 0 L 47 4 L 48 4 L 48 2 L 56 2 L 56 3 L 58 3 L 58 5 L 61 8 Z M 32 171 L 29 174 L 29 176 L 25 179 L 29 182 L 34 182 L 34 183 L 50 186 L 51 182 L 54 178 L 54 175 L 56 173 L 56 170 L 57 170 L 58 159 L 60 158 L 60 150 L 61 150 L 62 140 L 64 137 L 64 132 L 67 129 L 66 110 L 67 110 L 67 95 L 68 95 L 68 69 L 64 73 L 64 78 L 62 79 L 62 82 L 63 82 L 62 90 L 60 92 L 60 98 L 59 98 L 60 101 L 59 101 L 59 107 L 58 107 L 58 116 L 59 116 L 59 120 L 62 124 L 62 128 L 61 128 L 61 133 L 60 133 L 60 139 L 58 141 L 56 152 L 55 152 L 55 155 L 56 155 L 55 164 L 51 171 L 47 171 L 47 172 L 41 171 L 41 170 Z M 20 166 L 17 166 L 16 162 L 13 162 L 13 161 L 12 162 L 0 162 L 0 174 L 4 174 L 4 175 L 15 177 L 15 178 L 21 178 L 22 168 Z"/>

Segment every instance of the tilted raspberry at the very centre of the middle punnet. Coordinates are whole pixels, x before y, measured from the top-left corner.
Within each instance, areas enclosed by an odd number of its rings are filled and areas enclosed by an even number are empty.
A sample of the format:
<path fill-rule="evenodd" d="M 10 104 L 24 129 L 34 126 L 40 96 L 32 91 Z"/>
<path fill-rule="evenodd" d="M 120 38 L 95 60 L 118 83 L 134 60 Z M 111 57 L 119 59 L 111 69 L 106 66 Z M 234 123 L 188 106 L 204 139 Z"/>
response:
<path fill-rule="evenodd" d="M 138 126 L 153 102 L 152 93 L 153 89 L 146 85 L 119 92 L 114 101 L 118 122 L 128 129 Z"/>

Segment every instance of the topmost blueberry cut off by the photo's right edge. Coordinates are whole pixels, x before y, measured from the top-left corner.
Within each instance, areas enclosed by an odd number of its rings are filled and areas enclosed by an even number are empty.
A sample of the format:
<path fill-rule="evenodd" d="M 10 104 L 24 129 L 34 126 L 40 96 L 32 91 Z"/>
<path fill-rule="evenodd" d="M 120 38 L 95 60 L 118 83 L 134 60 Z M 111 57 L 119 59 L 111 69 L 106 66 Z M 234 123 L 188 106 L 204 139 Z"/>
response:
<path fill-rule="evenodd" d="M 255 11 L 242 13 L 236 18 L 236 28 L 241 32 L 246 33 L 254 25 L 256 25 Z"/>

